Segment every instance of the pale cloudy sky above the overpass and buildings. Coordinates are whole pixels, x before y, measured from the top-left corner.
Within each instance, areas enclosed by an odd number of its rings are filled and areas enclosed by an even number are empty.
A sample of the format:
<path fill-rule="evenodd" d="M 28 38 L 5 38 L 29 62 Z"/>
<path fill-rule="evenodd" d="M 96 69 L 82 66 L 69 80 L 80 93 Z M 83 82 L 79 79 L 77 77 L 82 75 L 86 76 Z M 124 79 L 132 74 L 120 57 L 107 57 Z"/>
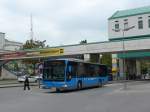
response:
<path fill-rule="evenodd" d="M 150 0 L 0 0 L 0 32 L 25 43 L 31 38 L 49 46 L 108 40 L 108 18 L 117 10 L 149 6 Z"/>

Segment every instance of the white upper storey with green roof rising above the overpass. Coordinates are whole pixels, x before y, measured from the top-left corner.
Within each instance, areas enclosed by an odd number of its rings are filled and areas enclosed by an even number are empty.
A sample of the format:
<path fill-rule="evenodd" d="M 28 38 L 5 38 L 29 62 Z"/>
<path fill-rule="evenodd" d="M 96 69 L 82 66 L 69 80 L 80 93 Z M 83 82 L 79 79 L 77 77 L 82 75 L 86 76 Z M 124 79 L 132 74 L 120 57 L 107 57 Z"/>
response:
<path fill-rule="evenodd" d="M 150 6 L 117 11 L 108 19 L 108 34 L 109 40 L 149 37 Z"/>

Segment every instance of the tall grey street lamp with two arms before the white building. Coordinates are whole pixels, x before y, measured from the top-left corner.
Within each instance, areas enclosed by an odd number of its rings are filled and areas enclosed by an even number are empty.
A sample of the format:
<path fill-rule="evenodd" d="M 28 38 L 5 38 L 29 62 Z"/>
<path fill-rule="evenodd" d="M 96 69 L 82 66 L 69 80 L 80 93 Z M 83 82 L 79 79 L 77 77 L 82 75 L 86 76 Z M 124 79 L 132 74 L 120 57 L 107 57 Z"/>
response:
<path fill-rule="evenodd" d="M 120 31 L 122 31 L 122 33 L 123 33 L 123 38 L 122 38 L 122 52 L 123 52 L 123 77 L 124 77 L 124 90 L 126 90 L 127 89 L 127 82 L 126 82 L 126 73 L 125 73 L 125 45 L 124 45 L 124 33 L 126 32 L 126 31 L 129 31 L 130 29 L 133 29 L 135 26 L 131 26 L 131 27 L 128 27 L 128 28 L 125 28 L 125 24 L 124 24 L 124 29 L 112 29 L 113 31 L 115 31 L 115 32 L 120 32 Z"/>

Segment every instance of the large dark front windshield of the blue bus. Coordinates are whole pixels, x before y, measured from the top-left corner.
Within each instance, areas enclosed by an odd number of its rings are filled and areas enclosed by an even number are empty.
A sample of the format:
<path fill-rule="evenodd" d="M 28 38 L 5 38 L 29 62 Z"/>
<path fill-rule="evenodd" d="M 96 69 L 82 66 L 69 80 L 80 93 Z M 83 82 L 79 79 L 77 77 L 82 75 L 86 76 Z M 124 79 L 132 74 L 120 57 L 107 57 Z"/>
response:
<path fill-rule="evenodd" d="M 43 79 L 50 81 L 64 81 L 65 61 L 45 61 L 43 68 Z"/>

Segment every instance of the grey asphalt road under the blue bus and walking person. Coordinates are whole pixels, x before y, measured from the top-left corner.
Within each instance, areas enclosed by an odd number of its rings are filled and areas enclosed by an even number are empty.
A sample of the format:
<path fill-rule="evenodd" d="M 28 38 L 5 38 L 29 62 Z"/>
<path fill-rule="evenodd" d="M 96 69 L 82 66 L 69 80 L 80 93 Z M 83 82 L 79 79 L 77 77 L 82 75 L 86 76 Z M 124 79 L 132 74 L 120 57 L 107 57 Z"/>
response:
<path fill-rule="evenodd" d="M 150 82 L 120 83 L 64 93 L 0 88 L 1 112 L 150 112 Z"/>

